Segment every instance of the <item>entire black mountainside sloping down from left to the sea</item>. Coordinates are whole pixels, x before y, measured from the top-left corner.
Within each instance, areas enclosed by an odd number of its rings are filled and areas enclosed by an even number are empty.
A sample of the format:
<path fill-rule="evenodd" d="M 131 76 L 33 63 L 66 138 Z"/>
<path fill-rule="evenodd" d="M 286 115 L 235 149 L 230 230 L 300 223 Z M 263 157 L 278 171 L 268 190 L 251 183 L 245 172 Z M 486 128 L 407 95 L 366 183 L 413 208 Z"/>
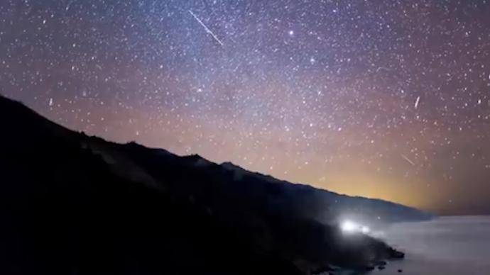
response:
<path fill-rule="evenodd" d="M 359 219 L 430 215 L 131 142 L 88 137 L 0 96 L 0 274 L 313 274 L 401 252 Z"/>

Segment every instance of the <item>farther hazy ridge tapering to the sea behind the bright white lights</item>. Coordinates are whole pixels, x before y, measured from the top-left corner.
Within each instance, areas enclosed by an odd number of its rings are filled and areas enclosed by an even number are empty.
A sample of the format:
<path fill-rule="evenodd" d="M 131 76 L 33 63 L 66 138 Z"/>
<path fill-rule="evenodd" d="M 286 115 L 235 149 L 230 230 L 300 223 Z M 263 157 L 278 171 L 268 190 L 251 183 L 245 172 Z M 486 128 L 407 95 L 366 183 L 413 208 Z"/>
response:
<path fill-rule="evenodd" d="M 237 193 L 241 198 L 262 204 L 262 207 L 273 208 L 288 215 L 300 215 L 321 223 L 337 223 L 345 216 L 372 225 L 432 218 L 430 213 L 398 203 L 345 196 L 308 185 L 291 184 L 271 176 L 249 172 L 230 162 L 214 164 L 199 155 L 178 157 L 165 150 L 150 149 L 134 142 L 122 150 L 156 179 L 168 178 L 170 174 L 175 174 L 175 169 L 184 170 L 186 173 L 182 173 L 182 176 L 193 179 L 187 180 L 185 185 L 176 181 L 177 184 L 170 184 L 171 187 L 174 191 L 194 192 L 193 196 L 205 192 L 203 199 L 209 198 L 209 193 L 214 191 Z M 203 184 L 202 179 L 212 179 L 212 183 Z M 189 188 L 189 184 L 192 188 Z M 216 186 L 216 189 L 212 186 Z"/>

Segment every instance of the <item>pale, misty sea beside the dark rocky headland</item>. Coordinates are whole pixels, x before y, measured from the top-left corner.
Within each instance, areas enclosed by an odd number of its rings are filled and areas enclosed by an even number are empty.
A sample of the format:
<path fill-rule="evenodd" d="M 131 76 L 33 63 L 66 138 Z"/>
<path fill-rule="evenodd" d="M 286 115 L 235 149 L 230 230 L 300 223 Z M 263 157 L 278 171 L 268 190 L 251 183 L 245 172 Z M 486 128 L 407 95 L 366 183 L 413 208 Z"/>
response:
<path fill-rule="evenodd" d="M 490 216 L 451 216 L 416 223 L 394 223 L 377 232 L 405 252 L 369 274 L 490 275 Z"/>

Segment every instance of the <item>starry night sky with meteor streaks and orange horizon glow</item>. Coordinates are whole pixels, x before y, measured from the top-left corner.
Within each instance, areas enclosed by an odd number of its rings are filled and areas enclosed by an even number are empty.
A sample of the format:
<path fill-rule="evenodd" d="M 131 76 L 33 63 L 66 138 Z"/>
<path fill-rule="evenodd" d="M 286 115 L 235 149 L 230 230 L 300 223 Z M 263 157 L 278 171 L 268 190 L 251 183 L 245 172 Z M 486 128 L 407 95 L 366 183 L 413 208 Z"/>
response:
<path fill-rule="evenodd" d="M 88 135 L 490 213 L 489 0 L 2 0 L 0 89 Z"/>

